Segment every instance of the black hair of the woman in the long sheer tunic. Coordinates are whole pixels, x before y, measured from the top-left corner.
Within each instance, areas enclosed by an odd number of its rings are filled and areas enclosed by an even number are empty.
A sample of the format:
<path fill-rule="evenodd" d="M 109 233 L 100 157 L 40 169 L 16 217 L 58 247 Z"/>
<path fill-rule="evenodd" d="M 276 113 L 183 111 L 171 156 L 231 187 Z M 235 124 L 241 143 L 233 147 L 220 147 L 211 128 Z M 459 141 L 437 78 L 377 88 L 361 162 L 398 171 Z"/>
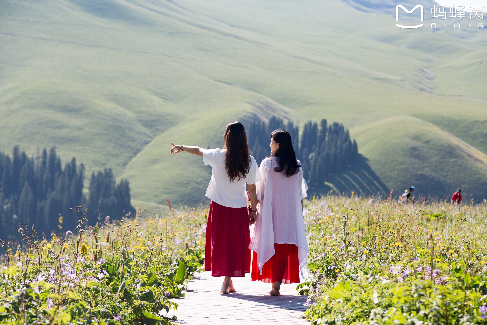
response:
<path fill-rule="evenodd" d="M 277 157 L 279 164 L 279 167 L 274 170 L 276 172 L 284 172 L 287 177 L 297 174 L 301 165 L 296 160 L 291 134 L 286 130 L 278 129 L 271 133 L 271 138 L 279 143 L 277 152 L 271 154 L 271 157 Z"/>

